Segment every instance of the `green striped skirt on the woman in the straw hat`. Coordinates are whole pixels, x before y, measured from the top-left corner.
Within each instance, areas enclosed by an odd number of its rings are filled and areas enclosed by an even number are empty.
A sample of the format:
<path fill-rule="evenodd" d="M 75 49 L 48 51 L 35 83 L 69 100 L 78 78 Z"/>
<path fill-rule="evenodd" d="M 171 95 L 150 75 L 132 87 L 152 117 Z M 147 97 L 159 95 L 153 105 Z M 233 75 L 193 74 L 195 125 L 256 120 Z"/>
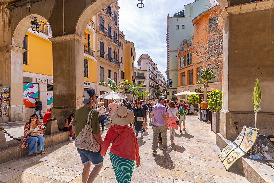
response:
<path fill-rule="evenodd" d="M 111 152 L 109 152 L 109 157 L 117 182 L 129 183 L 134 168 L 134 160 L 124 159 Z"/>

